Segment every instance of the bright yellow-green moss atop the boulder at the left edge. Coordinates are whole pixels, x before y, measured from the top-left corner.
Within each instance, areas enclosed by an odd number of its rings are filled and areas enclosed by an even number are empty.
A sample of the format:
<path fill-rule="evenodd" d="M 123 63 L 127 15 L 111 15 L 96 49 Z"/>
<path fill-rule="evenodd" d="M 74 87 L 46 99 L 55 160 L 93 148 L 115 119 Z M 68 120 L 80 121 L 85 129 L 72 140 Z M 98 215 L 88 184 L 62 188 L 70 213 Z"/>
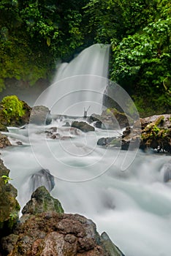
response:
<path fill-rule="evenodd" d="M 1 106 L 8 122 L 10 122 L 12 118 L 18 119 L 25 114 L 23 102 L 15 95 L 4 97 L 1 101 Z"/>

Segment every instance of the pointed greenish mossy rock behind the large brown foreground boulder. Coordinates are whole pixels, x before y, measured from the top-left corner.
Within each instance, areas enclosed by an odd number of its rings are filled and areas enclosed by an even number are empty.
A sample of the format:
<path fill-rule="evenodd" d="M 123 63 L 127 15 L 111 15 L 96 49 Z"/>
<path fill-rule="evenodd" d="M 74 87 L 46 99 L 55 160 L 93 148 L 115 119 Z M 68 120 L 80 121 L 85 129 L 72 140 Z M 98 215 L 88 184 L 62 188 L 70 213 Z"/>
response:
<path fill-rule="evenodd" d="M 61 203 L 51 197 L 50 193 L 45 187 L 39 187 L 31 195 L 31 200 L 26 203 L 22 213 L 23 214 L 39 214 L 45 211 L 54 211 L 57 213 L 63 213 L 64 209 L 61 206 Z"/>

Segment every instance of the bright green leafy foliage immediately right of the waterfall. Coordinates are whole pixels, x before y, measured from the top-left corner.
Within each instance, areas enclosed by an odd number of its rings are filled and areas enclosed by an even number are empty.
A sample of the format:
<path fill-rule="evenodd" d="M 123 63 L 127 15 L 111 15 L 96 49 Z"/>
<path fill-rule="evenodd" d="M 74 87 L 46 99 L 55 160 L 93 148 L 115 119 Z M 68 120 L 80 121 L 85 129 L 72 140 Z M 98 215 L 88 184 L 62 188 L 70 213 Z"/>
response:
<path fill-rule="evenodd" d="M 171 106 L 170 28 L 171 18 L 159 19 L 133 36 L 123 38 L 117 46 L 113 45 L 111 78 L 136 95 L 137 106 L 143 105 L 140 104 L 142 95 L 145 102 L 149 97 L 156 108 L 157 105 Z"/>

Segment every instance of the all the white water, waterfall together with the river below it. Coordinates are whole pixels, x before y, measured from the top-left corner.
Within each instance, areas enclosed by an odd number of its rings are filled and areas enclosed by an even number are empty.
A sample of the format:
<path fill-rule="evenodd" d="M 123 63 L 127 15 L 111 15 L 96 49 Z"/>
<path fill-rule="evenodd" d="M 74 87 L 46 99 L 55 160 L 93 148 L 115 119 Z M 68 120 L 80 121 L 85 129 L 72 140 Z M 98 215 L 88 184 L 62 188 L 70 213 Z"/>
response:
<path fill-rule="evenodd" d="M 35 105 L 47 105 L 52 113 L 70 117 L 53 118 L 52 124 L 33 125 L 30 130 L 27 126 L 9 128 L 6 135 L 13 145 L 20 141 L 20 146 L 4 148 L 1 158 L 10 170 L 10 182 L 18 189 L 21 208 L 38 182 L 52 189 L 50 194 L 61 201 L 66 213 L 92 219 L 97 230 L 106 231 L 124 255 L 170 256 L 168 157 L 97 146 L 99 138 L 116 137 L 121 129 L 95 127 L 95 132 L 83 133 L 64 127 L 75 120 L 72 116 L 83 116 L 84 108 L 91 106 L 88 114 L 101 112 L 108 52 L 108 45 L 93 45 L 69 64 L 62 64 L 53 85 Z M 127 97 L 122 92 L 120 96 L 118 102 Z M 58 139 L 46 136 L 50 129 L 58 129 Z M 134 161 L 123 169 L 124 159 Z"/>

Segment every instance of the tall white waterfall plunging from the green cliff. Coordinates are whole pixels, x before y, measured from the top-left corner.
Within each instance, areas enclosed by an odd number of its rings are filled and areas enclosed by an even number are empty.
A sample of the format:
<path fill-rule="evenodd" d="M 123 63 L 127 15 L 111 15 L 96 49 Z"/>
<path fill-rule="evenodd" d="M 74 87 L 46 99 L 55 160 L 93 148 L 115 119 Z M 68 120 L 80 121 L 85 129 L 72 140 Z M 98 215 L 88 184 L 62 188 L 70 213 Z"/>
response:
<path fill-rule="evenodd" d="M 110 45 L 92 45 L 70 63 L 58 68 L 53 85 L 39 96 L 35 105 L 46 105 L 51 113 L 83 116 L 102 112 L 107 86 Z"/>

